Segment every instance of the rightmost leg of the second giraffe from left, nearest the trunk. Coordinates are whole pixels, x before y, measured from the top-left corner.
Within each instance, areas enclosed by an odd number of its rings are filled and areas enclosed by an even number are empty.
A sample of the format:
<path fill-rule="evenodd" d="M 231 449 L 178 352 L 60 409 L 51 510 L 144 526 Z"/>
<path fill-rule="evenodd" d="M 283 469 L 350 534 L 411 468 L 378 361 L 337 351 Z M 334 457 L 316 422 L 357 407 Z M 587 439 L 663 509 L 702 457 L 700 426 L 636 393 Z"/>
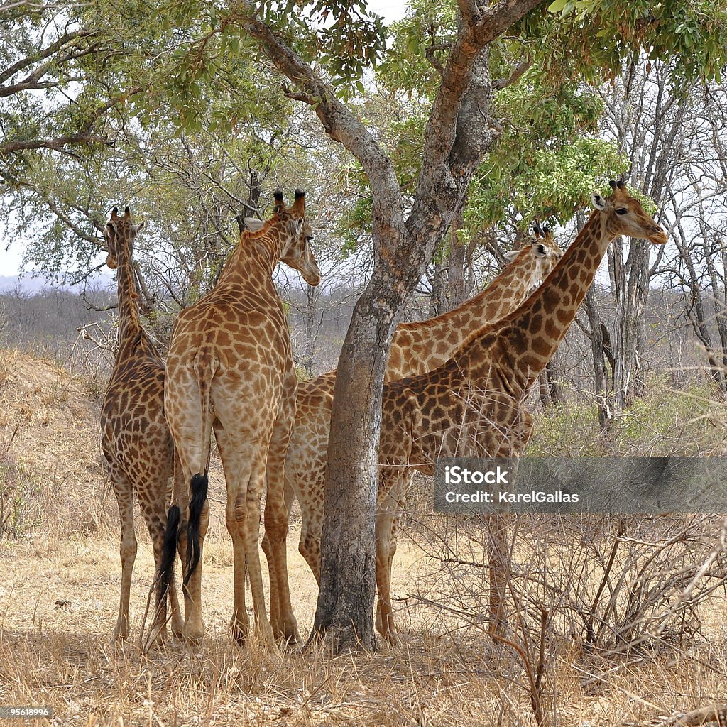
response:
<path fill-rule="evenodd" d="M 270 577 L 270 614 L 276 618 L 275 625 L 278 632 L 289 643 L 296 643 L 298 640 L 298 624 L 293 614 L 288 580 L 286 541 L 289 505 L 286 502 L 284 478 L 285 457 L 295 414 L 294 387 L 295 382 L 292 382 L 292 391 L 284 398 L 281 414 L 273 427 L 265 468 L 268 488 L 265 499 L 265 534 L 270 538 L 270 555 L 274 571 Z"/>

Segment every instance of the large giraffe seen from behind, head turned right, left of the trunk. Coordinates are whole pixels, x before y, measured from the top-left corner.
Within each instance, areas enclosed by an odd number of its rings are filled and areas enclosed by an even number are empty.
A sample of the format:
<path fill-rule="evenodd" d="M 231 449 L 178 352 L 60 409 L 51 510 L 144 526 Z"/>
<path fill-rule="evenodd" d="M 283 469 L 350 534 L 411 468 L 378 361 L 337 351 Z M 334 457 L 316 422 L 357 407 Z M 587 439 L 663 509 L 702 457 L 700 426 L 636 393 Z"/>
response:
<path fill-rule="evenodd" d="M 245 230 L 217 286 L 196 305 L 182 310 L 166 360 L 166 419 L 191 497 L 177 494 L 167 524 L 169 549 L 161 571 L 170 577 L 174 534 L 186 562 L 185 638 L 199 640 L 201 556 L 209 521 L 207 467 L 212 430 L 220 450 L 227 488 L 225 521 L 233 540 L 233 635 L 242 643 L 249 631 L 245 610 L 245 568 L 258 636 L 272 636 L 265 614 L 257 537 L 260 498 L 267 483 L 265 524 L 279 568 L 286 568 L 285 541 L 278 523 L 287 520 L 283 496 L 285 453 L 294 420 L 297 376 L 282 302 L 273 284 L 278 261 L 300 270 L 318 285 L 321 274 L 310 250 L 312 232 L 305 220 L 305 194 L 295 191 L 289 209 L 276 192 L 273 217 L 257 231 Z M 188 507 L 188 524 L 180 523 Z M 287 514 L 286 511 L 284 513 Z M 271 574 L 287 638 L 297 635 L 287 580 Z"/>

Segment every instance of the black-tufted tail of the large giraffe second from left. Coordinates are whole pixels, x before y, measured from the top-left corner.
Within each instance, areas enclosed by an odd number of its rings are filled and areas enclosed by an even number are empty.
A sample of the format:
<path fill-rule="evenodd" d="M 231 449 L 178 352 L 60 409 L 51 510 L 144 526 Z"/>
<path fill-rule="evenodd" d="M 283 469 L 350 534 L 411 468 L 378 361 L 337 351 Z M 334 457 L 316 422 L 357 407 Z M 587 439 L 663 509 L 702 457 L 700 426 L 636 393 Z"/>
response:
<path fill-rule="evenodd" d="M 195 371 L 197 374 L 197 382 L 199 385 L 199 398 L 202 415 L 202 440 L 201 440 L 201 459 L 205 464 L 201 465 L 200 471 L 196 475 L 192 475 L 190 480 L 190 501 L 189 501 L 189 520 L 187 522 L 187 574 L 185 575 L 185 585 L 188 584 L 190 577 L 194 573 L 201 555 L 201 547 L 199 544 L 199 529 L 202 510 L 207 499 L 207 486 L 209 478 L 207 477 L 206 466 L 209 465 L 209 443 L 212 438 L 212 411 L 209 406 L 210 387 L 212 379 L 217 371 L 219 362 L 215 360 L 209 349 L 203 348 L 197 356 L 195 362 Z M 204 472 L 201 471 L 204 467 Z"/>

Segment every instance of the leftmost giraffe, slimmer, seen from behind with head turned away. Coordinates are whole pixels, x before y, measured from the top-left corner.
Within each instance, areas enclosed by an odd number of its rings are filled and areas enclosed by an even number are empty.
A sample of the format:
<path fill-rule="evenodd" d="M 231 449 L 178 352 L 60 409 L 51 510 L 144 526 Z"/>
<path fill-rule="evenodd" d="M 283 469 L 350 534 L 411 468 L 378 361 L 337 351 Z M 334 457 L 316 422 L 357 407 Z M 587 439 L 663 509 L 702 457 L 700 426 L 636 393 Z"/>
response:
<path fill-rule="evenodd" d="M 104 231 L 106 264 L 116 270 L 119 300 L 119 350 L 101 410 L 103 454 L 121 520 L 121 598 L 115 640 L 129 635 L 129 589 L 137 553 L 133 493 L 139 499 L 158 565 L 174 467 L 172 435 L 164 419 L 164 362 L 142 328 L 137 309 L 132 252 L 143 224 L 132 223 L 128 207 L 123 217 L 114 207 Z M 169 601 L 172 631 L 180 634 L 182 622 L 173 581 Z M 157 585 L 152 633 L 164 638 L 165 630 L 166 593 Z"/>

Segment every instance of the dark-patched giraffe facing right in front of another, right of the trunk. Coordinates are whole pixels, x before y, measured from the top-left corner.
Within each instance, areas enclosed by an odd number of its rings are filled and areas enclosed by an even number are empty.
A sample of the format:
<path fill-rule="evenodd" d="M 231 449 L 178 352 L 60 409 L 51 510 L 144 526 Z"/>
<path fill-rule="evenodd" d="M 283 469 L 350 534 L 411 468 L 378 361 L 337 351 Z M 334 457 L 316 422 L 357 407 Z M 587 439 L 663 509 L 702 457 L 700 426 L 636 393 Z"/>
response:
<path fill-rule="evenodd" d="M 390 558 L 387 541 L 401 511 L 409 468 L 432 475 L 438 457 L 519 457 L 533 426 L 524 399 L 573 322 L 608 244 L 619 235 L 652 244 L 667 241 L 664 229 L 624 182 L 610 183 L 611 196 L 593 194 L 595 209 L 586 225 L 520 308 L 472 334 L 446 364 L 384 387 L 377 589 L 385 638 L 395 640 L 390 571 L 378 566 Z"/>

